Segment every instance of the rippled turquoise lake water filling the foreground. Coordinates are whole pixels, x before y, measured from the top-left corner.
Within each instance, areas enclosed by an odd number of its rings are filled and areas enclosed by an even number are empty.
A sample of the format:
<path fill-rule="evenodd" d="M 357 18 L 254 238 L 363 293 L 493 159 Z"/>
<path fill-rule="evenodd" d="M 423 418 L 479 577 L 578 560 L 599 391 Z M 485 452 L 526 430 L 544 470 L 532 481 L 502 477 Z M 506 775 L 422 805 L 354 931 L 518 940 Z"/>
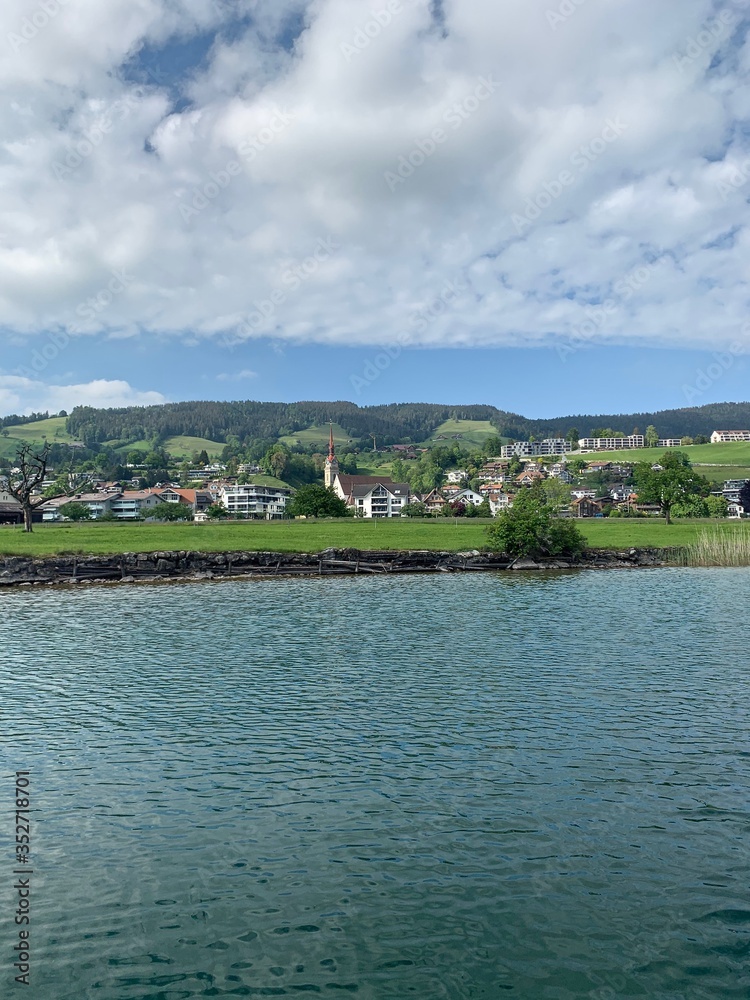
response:
<path fill-rule="evenodd" d="M 750 572 L 0 601 L 0 996 L 750 996 Z"/>

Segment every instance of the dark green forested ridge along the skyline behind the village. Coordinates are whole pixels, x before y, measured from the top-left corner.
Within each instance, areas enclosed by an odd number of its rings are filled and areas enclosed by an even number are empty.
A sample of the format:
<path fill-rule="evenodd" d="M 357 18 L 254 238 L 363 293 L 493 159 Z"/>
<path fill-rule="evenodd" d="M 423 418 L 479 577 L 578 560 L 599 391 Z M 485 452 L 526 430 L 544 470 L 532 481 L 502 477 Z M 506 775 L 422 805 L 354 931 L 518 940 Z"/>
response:
<path fill-rule="evenodd" d="M 532 420 L 494 406 L 444 406 L 435 403 L 391 403 L 359 407 L 348 402 L 166 403 L 162 406 L 100 410 L 76 407 L 67 430 L 87 445 L 104 441 L 140 441 L 175 435 L 225 442 L 229 437 L 275 441 L 328 421 L 338 424 L 354 441 L 366 443 L 377 435 L 380 445 L 426 441 L 446 420 L 488 421 L 498 434 L 511 438 L 564 436 L 572 427 L 581 436 L 599 428 L 630 434 L 653 424 L 663 437 L 710 434 L 716 429 L 750 428 L 750 403 L 710 403 L 702 407 L 654 413 L 574 414 L 552 420 Z"/>

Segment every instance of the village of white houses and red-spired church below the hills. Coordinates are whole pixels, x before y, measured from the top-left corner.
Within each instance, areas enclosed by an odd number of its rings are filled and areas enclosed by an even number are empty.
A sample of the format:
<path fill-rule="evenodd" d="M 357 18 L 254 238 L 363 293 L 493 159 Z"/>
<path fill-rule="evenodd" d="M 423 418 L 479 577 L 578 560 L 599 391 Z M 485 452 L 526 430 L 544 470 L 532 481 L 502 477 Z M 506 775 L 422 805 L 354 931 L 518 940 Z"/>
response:
<path fill-rule="evenodd" d="M 714 431 L 712 444 L 750 441 L 750 431 Z M 678 449 L 684 439 L 659 438 L 655 448 Z M 340 470 L 331 430 L 325 459 L 324 485 L 358 518 L 394 517 L 484 517 L 492 518 L 513 506 L 521 489 L 545 484 L 547 500 L 558 517 L 648 517 L 660 508 L 639 500 L 634 488 L 634 463 L 608 459 L 607 452 L 642 449 L 643 435 L 624 437 L 564 438 L 515 441 L 504 445 L 497 456 L 470 472 L 466 468 L 445 470 L 444 481 L 418 492 L 408 482 L 395 482 L 389 475 L 347 474 Z M 393 445 L 401 468 L 416 459 L 418 449 Z M 641 459 L 642 460 L 642 459 Z M 651 465 L 659 470 L 658 461 Z M 715 484 L 704 508 L 689 516 L 741 518 L 745 508 L 740 493 L 749 482 L 728 479 Z M 221 462 L 205 463 L 185 471 L 180 482 L 144 487 L 138 475 L 128 481 L 109 482 L 96 476 L 71 476 L 64 494 L 44 499 L 44 493 L 59 484 L 50 472 L 40 485 L 33 520 L 58 523 L 70 520 L 160 521 L 214 519 L 276 520 L 289 517 L 287 510 L 294 487 L 263 475 L 259 465 L 245 463 L 236 474 L 228 474 Z M 187 483 L 187 485 L 186 485 Z M 80 488 L 77 488 L 77 484 Z M 6 484 L 7 487 L 7 484 Z M 678 513 L 679 516 L 679 513 Z M 18 500 L 0 484 L 0 523 L 20 524 L 23 512 Z"/>

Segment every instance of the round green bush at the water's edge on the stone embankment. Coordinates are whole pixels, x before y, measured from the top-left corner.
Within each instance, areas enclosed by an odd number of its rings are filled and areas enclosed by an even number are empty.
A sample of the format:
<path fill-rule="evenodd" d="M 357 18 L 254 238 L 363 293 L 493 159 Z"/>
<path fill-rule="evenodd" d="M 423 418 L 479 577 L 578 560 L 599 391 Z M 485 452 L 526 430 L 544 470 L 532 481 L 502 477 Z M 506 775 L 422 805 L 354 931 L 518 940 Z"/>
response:
<path fill-rule="evenodd" d="M 487 529 L 490 544 L 509 556 L 577 556 L 586 547 L 573 520 L 556 518 L 538 487 L 519 490 L 513 506 Z"/>

